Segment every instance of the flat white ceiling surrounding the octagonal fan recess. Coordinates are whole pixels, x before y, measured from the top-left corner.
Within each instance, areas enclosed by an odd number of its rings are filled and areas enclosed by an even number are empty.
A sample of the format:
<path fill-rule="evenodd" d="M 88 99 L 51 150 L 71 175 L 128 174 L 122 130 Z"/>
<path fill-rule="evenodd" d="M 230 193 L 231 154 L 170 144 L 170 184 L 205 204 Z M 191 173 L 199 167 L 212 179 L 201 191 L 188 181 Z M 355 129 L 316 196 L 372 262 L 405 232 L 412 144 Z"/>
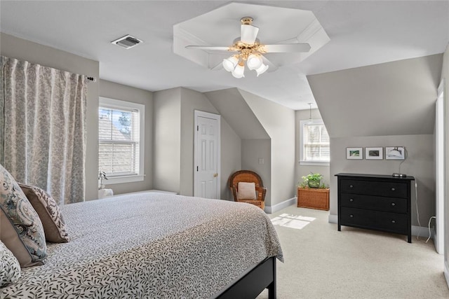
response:
<path fill-rule="evenodd" d="M 229 1 L 2 0 L 0 31 L 96 60 L 100 78 L 108 81 L 150 91 L 240 88 L 291 109 L 307 109 L 307 103 L 315 102 L 307 75 L 443 53 L 449 42 L 449 1 L 241 2 L 311 11 L 330 41 L 302 62 L 236 79 L 173 53 L 174 25 Z M 230 11 L 227 22 L 204 27 L 220 39 L 220 29 L 242 17 Z M 267 15 L 257 18 L 260 32 L 288 27 L 276 11 L 269 15 L 277 20 L 276 27 L 263 21 Z M 126 34 L 144 43 L 130 50 L 110 43 Z"/>

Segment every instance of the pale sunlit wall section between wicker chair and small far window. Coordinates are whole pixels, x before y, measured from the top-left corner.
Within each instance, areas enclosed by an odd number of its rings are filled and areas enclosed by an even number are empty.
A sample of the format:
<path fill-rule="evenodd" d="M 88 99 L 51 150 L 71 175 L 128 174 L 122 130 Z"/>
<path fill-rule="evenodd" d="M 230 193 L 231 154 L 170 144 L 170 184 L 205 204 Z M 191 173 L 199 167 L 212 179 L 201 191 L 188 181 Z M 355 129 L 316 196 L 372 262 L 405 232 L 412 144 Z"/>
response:
<path fill-rule="evenodd" d="M 267 190 L 271 200 L 266 205 L 273 207 L 292 198 L 295 190 L 295 111 L 244 90 L 240 92 L 271 138 L 272 188 Z"/>

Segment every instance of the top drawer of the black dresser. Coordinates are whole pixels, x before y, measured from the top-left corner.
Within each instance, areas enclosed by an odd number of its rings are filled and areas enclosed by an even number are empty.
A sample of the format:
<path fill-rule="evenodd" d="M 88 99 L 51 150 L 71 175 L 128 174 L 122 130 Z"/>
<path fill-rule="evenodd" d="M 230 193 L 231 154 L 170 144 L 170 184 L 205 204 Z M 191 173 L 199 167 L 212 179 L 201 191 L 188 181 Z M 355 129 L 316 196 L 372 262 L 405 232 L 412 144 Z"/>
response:
<path fill-rule="evenodd" d="M 407 198 L 407 183 L 342 179 L 339 192 Z"/>

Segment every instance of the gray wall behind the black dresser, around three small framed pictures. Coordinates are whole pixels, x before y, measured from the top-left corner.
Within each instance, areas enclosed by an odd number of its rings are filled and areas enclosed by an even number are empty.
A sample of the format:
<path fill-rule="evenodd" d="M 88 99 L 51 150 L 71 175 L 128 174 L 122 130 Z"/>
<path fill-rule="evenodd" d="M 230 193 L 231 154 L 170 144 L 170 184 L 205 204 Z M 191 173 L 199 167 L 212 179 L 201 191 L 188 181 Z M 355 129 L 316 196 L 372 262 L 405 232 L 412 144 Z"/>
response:
<path fill-rule="evenodd" d="M 393 174 L 399 172 L 402 160 L 347 160 L 347 147 L 405 146 L 406 160 L 401 173 L 415 176 L 417 182 L 417 205 L 422 227 L 427 227 L 435 213 L 434 199 L 434 152 L 433 135 L 400 135 L 377 137 L 341 137 L 330 139 L 330 218 L 337 216 L 337 178 L 335 174 Z M 412 190 L 412 225 L 417 221 L 415 190 Z"/>

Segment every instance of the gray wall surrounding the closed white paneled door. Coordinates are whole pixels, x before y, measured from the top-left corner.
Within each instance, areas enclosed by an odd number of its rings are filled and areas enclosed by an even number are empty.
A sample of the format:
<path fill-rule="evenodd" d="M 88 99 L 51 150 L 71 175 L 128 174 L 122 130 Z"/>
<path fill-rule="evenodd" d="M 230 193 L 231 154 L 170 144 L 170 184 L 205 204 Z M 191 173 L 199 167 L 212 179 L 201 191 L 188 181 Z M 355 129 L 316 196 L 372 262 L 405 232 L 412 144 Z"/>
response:
<path fill-rule="evenodd" d="M 201 92 L 173 88 L 154 92 L 153 188 L 194 195 L 194 111 L 218 113 Z M 227 179 L 239 169 L 241 141 L 221 118 L 220 193 L 230 199 Z"/>

